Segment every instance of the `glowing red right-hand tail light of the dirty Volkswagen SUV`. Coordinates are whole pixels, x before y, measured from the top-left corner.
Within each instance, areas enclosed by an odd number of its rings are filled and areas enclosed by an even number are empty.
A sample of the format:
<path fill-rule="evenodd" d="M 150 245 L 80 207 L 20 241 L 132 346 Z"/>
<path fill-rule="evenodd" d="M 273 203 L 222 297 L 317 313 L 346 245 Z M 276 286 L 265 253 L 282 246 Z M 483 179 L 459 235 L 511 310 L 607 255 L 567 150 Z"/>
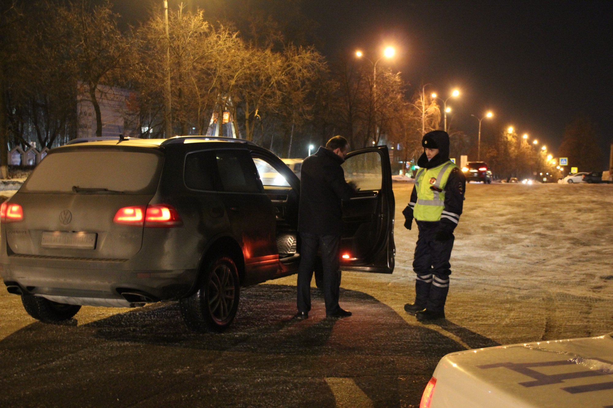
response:
<path fill-rule="evenodd" d="M 137 227 L 177 227 L 182 224 L 177 210 L 168 204 L 123 207 L 117 210 L 113 222 Z"/>

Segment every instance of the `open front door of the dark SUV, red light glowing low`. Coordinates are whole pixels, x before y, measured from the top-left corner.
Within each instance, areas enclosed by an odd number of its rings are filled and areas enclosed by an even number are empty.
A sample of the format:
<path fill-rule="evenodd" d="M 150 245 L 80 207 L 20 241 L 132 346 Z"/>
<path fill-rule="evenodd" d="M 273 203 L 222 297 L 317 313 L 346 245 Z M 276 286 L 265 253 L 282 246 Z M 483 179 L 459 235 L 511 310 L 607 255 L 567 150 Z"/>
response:
<path fill-rule="evenodd" d="M 345 179 L 359 189 L 343 202 L 341 270 L 392 273 L 394 192 L 387 146 L 352 151 L 343 163 Z"/>

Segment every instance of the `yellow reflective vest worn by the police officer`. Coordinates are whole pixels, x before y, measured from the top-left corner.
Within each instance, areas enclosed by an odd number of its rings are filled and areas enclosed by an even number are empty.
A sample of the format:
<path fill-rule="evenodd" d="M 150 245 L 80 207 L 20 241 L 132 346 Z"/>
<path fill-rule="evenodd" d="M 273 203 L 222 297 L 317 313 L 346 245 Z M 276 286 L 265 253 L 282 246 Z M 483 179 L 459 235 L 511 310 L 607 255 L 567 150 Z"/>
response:
<path fill-rule="evenodd" d="M 413 217 L 417 221 L 441 221 L 445 206 L 445 185 L 455 167 L 457 166 L 452 161 L 446 161 L 436 167 L 420 168 L 417 171 L 417 202 L 413 208 Z"/>

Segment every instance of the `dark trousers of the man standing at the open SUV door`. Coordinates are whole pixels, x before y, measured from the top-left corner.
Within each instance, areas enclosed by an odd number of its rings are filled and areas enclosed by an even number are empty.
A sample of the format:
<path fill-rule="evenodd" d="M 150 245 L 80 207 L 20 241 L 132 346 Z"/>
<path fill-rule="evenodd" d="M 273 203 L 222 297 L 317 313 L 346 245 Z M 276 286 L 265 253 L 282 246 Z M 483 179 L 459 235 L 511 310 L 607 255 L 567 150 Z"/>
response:
<path fill-rule="evenodd" d="M 326 314 L 338 312 L 339 287 L 341 284 L 341 271 L 338 269 L 340 260 L 340 235 L 316 235 L 300 232 L 300 266 L 298 269 L 298 297 L 299 312 L 311 310 L 311 279 L 317 259 L 318 248 L 321 252 L 323 266 L 323 291 L 326 301 Z"/>

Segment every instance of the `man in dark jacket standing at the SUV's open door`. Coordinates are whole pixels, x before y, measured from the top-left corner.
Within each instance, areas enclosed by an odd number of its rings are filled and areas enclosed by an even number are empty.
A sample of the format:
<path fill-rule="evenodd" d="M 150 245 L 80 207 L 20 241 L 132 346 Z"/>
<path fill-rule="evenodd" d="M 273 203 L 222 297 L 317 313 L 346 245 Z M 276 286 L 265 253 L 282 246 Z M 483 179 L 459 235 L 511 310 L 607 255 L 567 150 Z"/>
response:
<path fill-rule="evenodd" d="M 341 164 L 349 151 L 342 136 L 328 140 L 326 147 L 307 157 L 300 170 L 300 267 L 297 281 L 297 319 L 307 319 L 311 310 L 311 278 L 321 252 L 323 290 L 327 317 L 347 317 L 351 312 L 338 305 L 340 287 L 339 251 L 343 230 L 341 200 L 349 200 L 354 189 L 345 181 Z"/>

